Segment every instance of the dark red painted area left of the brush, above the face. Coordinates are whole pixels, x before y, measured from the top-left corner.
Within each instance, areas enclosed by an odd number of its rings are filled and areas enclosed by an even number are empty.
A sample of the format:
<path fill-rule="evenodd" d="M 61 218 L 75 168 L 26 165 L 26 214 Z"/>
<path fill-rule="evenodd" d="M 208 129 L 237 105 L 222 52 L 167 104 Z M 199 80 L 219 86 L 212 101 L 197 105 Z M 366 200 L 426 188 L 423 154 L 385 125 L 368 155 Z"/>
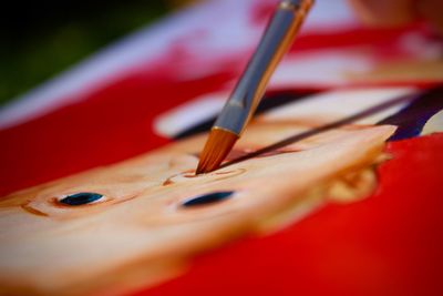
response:
<path fill-rule="evenodd" d="M 231 78 L 176 81 L 155 74 L 132 74 L 80 103 L 0 131 L 0 196 L 167 143 L 153 131 L 155 116 Z"/>

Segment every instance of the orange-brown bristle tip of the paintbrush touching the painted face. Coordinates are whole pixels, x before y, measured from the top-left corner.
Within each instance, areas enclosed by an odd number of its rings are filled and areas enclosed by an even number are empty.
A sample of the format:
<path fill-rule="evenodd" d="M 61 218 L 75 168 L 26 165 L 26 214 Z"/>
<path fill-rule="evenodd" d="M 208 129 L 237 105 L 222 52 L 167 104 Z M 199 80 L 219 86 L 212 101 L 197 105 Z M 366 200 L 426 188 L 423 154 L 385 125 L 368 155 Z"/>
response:
<path fill-rule="evenodd" d="M 200 154 L 196 174 L 217 170 L 233 149 L 238 135 L 229 131 L 213 129 Z"/>

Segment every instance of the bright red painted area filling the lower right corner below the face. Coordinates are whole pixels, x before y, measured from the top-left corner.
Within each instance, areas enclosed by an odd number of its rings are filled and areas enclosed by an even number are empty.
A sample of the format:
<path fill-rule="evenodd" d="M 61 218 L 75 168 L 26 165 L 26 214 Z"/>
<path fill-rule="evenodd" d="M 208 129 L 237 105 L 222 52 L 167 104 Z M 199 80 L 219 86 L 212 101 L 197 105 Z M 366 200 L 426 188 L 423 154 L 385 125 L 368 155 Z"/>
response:
<path fill-rule="evenodd" d="M 443 295 L 443 134 L 388 151 L 368 200 L 200 256 L 136 295 Z"/>

